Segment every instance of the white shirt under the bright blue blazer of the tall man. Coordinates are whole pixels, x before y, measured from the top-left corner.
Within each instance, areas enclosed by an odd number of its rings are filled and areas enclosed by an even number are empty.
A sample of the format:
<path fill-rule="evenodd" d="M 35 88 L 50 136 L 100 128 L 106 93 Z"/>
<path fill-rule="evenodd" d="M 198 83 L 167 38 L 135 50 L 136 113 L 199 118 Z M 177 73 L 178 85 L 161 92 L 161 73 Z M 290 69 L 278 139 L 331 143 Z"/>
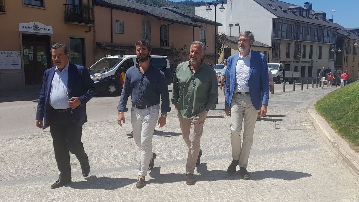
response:
<path fill-rule="evenodd" d="M 236 80 L 237 83 L 234 86 L 234 93 L 237 92 L 249 92 L 248 87 L 248 78 L 249 78 L 249 69 L 251 64 L 251 52 L 247 56 L 241 56 L 239 53 L 239 57 L 237 60 L 236 66 Z"/>

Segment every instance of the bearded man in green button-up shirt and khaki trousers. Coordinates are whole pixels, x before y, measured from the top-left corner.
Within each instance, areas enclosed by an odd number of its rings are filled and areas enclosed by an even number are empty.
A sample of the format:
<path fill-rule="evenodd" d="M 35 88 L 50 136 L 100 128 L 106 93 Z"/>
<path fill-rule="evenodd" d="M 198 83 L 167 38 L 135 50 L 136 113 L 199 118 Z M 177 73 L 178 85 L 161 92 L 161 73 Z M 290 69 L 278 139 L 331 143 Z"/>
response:
<path fill-rule="evenodd" d="M 200 164 L 203 124 L 208 111 L 216 108 L 218 82 L 211 66 L 203 63 L 206 46 L 195 41 L 190 46 L 190 61 L 178 64 L 173 76 L 171 101 L 176 107 L 183 139 L 188 146 L 186 184 L 196 183 L 193 173 Z"/>

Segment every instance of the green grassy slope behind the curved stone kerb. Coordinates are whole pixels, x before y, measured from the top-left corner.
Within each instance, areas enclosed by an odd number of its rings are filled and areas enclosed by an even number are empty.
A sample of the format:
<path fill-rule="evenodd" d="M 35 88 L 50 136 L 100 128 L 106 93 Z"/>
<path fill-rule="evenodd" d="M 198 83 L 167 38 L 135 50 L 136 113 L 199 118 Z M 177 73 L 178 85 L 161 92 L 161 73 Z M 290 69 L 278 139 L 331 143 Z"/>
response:
<path fill-rule="evenodd" d="M 359 81 L 328 93 L 315 108 L 338 134 L 359 146 Z"/>

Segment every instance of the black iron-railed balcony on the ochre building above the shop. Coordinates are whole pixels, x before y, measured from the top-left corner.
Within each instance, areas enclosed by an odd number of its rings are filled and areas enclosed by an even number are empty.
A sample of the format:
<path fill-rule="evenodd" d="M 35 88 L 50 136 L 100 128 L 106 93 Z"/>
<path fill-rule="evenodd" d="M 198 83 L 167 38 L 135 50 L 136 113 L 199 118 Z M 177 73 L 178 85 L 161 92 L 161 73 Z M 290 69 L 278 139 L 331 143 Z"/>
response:
<path fill-rule="evenodd" d="M 89 6 L 78 6 L 74 4 L 65 5 L 65 22 L 67 23 L 81 23 L 94 24 L 93 22 L 93 8 Z"/>

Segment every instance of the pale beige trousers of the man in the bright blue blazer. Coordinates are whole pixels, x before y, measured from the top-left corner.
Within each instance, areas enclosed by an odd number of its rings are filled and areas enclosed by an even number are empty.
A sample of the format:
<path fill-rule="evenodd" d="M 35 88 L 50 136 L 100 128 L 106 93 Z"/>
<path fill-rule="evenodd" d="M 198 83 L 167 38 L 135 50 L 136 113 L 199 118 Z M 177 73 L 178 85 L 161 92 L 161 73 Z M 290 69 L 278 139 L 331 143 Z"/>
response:
<path fill-rule="evenodd" d="M 233 160 L 239 160 L 239 167 L 247 167 L 253 143 L 254 127 L 258 110 L 254 108 L 250 95 L 233 94 L 230 104 L 230 142 L 232 143 Z M 241 147 L 241 131 L 244 118 L 243 144 Z"/>

